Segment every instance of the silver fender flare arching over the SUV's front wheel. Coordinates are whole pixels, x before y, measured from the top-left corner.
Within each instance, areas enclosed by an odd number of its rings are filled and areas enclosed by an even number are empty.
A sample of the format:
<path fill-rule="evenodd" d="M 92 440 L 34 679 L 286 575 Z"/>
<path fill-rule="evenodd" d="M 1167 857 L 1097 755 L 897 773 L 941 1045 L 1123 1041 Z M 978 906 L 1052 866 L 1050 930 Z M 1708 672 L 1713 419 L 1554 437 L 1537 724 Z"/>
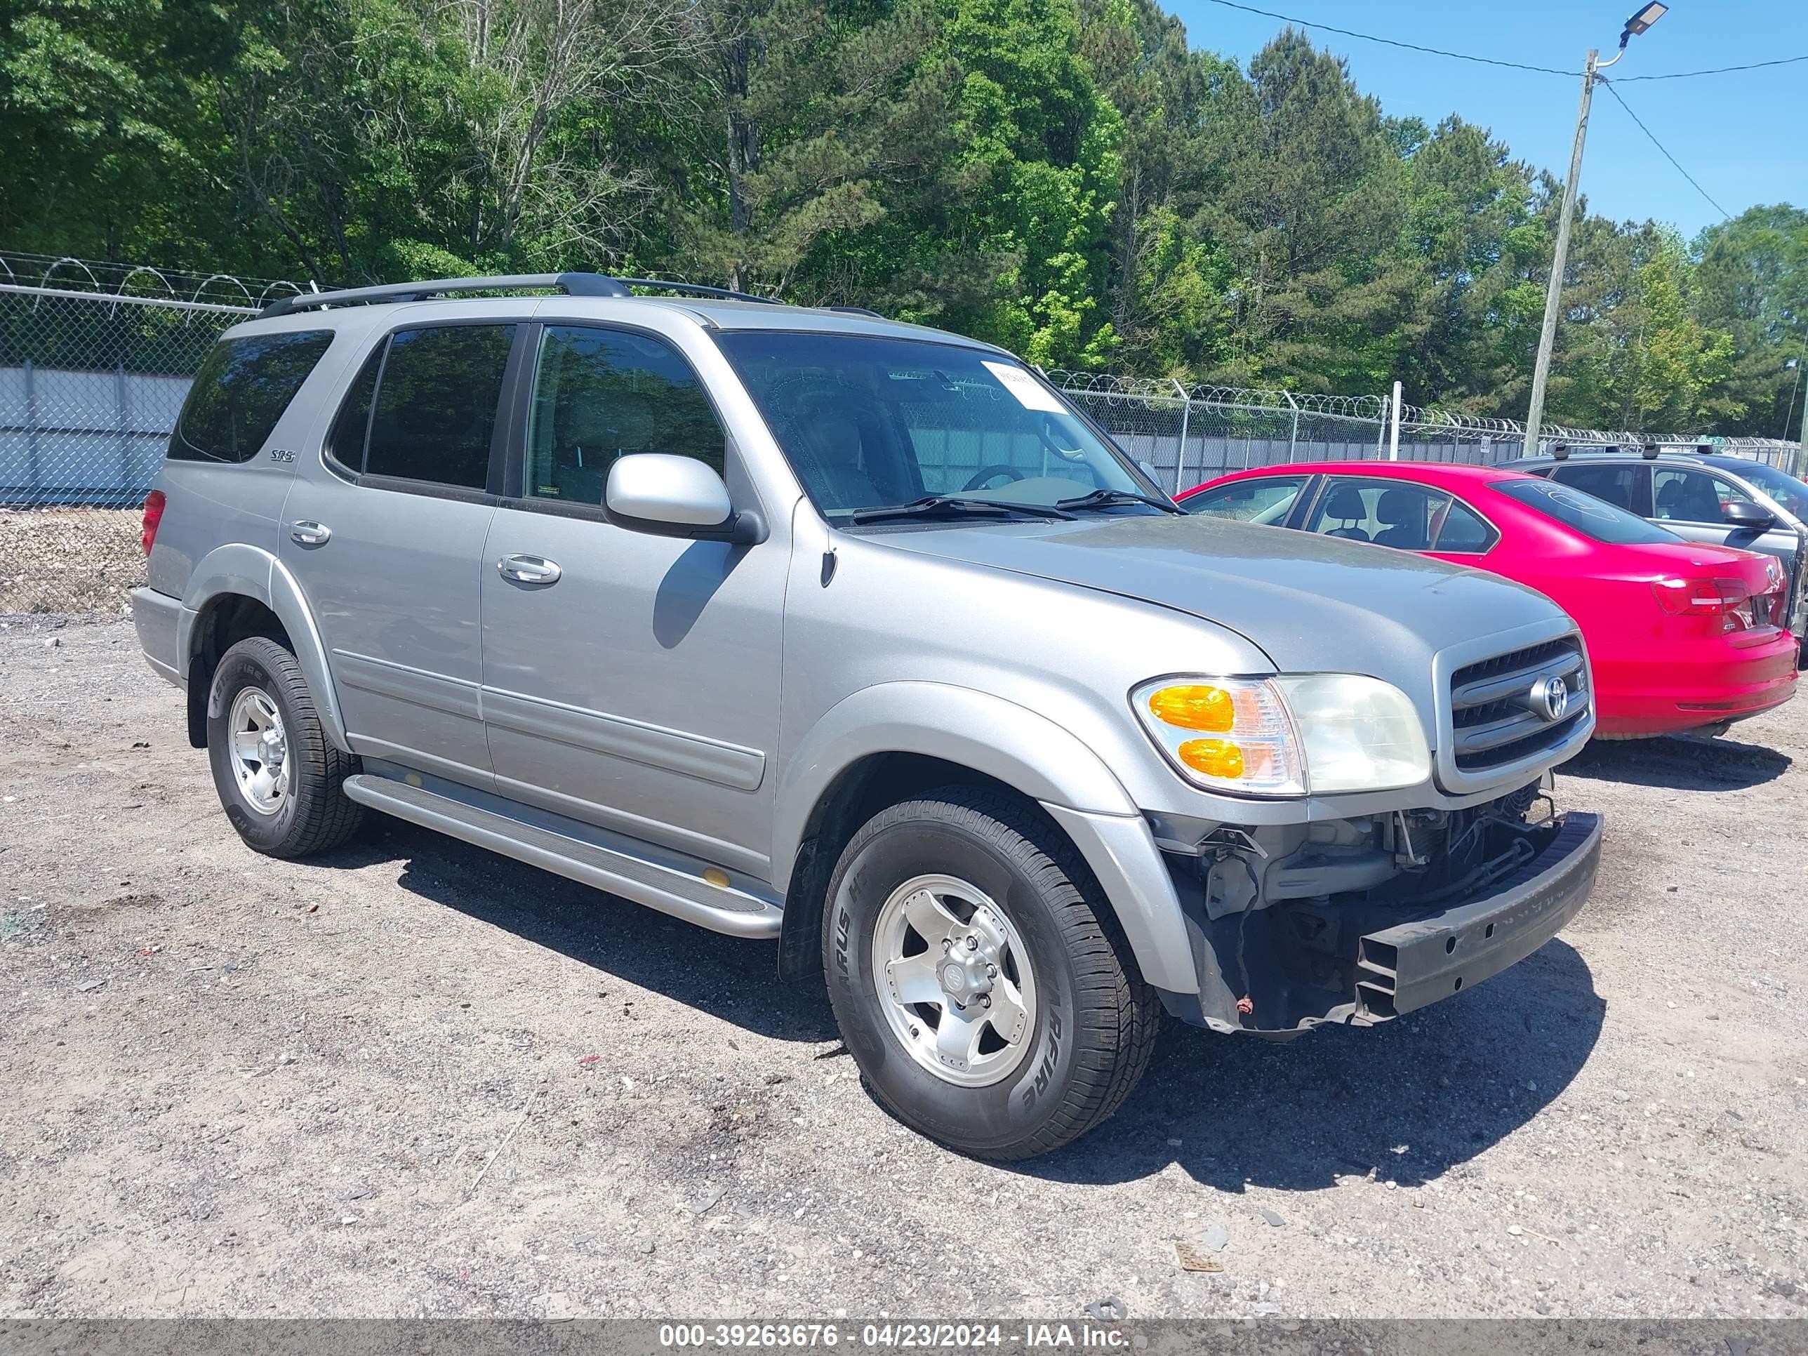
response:
<path fill-rule="evenodd" d="M 991 692 L 895 682 L 832 707 L 785 761 L 776 788 L 774 884 L 788 891 L 817 803 L 871 754 L 928 754 L 1038 801 L 1087 859 L 1144 978 L 1197 993 L 1191 946 L 1161 850 L 1110 767 L 1047 716 Z M 812 906 L 803 906 L 819 918 Z"/>

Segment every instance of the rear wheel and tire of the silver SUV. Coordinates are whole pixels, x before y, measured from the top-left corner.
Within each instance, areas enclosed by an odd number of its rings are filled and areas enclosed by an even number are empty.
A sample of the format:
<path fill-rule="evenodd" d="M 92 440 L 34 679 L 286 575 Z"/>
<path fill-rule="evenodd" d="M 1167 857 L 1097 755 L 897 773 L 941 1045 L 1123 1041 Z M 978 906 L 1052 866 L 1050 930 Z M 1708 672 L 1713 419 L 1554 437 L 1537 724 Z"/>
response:
<path fill-rule="evenodd" d="M 275 743 L 260 743 L 260 721 L 275 729 Z M 239 758 L 235 734 L 248 736 L 246 749 L 257 745 L 268 756 L 257 767 L 271 770 L 269 781 L 242 776 L 253 759 Z M 363 819 L 363 806 L 342 788 L 358 770 L 358 759 L 325 738 L 302 665 L 268 636 L 240 640 L 213 669 L 208 763 L 231 826 L 248 848 L 266 857 L 329 852 L 356 833 Z"/>

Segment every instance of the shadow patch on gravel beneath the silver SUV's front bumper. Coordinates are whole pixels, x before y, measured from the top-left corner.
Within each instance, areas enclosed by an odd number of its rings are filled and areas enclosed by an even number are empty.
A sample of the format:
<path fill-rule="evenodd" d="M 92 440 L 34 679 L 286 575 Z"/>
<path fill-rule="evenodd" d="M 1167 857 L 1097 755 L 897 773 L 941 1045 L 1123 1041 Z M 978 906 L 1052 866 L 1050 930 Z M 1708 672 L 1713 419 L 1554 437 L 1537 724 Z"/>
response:
<path fill-rule="evenodd" d="M 1587 964 L 1546 944 L 1474 991 L 1370 1029 L 1275 1043 L 1172 1025 L 1116 1117 L 1005 1164 L 1105 1184 L 1177 1164 L 1220 1191 L 1309 1191 L 1338 1177 L 1419 1186 L 1537 1116 L 1587 1061 L 1606 1003 Z"/>

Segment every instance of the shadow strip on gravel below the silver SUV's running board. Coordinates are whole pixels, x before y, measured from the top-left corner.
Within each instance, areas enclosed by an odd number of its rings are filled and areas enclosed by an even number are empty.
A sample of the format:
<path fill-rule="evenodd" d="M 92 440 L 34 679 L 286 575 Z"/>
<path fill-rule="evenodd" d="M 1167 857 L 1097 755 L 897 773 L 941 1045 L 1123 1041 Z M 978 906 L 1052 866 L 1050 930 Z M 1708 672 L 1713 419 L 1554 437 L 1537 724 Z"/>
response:
<path fill-rule="evenodd" d="M 776 942 L 747 942 L 692 928 L 400 819 L 378 821 L 362 843 L 336 855 L 345 866 L 398 857 L 396 884 L 409 893 L 602 975 L 654 989 L 772 1040 L 839 1040 L 821 985 L 779 982 Z"/>

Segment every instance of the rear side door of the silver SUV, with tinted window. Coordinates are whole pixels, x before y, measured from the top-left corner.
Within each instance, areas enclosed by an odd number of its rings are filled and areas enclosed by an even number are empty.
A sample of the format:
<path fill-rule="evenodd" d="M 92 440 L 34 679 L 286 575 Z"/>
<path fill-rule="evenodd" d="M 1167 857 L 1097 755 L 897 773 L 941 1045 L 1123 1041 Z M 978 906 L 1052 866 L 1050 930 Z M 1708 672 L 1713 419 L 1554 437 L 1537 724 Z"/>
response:
<path fill-rule="evenodd" d="M 479 584 L 519 329 L 380 338 L 284 508 L 282 562 L 318 620 L 353 750 L 472 786 L 490 786 Z"/>

